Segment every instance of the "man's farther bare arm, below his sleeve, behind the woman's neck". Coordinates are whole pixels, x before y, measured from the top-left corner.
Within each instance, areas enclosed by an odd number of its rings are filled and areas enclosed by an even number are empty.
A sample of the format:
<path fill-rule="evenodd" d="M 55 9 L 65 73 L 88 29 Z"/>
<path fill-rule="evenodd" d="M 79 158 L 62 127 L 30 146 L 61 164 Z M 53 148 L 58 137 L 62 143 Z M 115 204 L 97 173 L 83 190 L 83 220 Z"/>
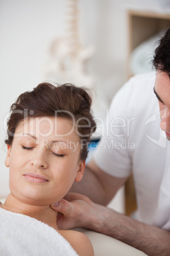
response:
<path fill-rule="evenodd" d="M 92 159 L 84 171 L 82 181 L 74 182 L 70 192 L 88 196 L 93 202 L 107 205 L 127 178 L 116 178 L 102 171 Z"/>

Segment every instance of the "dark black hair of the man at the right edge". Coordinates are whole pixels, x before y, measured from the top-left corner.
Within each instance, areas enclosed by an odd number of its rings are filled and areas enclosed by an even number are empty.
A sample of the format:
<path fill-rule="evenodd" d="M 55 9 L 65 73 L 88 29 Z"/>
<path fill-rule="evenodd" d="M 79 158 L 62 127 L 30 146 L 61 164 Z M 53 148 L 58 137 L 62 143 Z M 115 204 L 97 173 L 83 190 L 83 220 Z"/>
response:
<path fill-rule="evenodd" d="M 159 46 L 155 49 L 152 63 L 155 69 L 170 74 L 170 29 L 167 29 L 157 43 Z"/>

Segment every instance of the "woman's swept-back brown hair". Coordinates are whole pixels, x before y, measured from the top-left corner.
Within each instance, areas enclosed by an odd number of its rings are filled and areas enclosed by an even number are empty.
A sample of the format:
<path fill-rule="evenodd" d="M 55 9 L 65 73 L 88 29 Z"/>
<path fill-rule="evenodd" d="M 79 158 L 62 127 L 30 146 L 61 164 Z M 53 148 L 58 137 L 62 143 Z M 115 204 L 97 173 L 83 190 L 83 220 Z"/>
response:
<path fill-rule="evenodd" d="M 10 111 L 6 144 L 12 144 L 15 129 L 25 117 L 56 117 L 56 114 L 68 119 L 74 117 L 82 142 L 80 157 L 81 160 L 86 160 L 90 136 L 96 130 L 96 123 L 91 115 L 91 97 L 87 89 L 70 83 L 57 87 L 51 83 L 40 83 L 32 91 L 21 94 L 11 105 Z"/>

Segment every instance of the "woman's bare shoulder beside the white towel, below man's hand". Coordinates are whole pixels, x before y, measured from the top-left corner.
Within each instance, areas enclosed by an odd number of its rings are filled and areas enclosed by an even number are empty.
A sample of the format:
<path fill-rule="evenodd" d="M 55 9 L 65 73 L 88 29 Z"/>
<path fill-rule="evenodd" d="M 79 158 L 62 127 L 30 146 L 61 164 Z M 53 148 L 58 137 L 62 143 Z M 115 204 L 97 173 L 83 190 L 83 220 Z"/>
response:
<path fill-rule="evenodd" d="M 93 246 L 89 238 L 78 231 L 58 231 L 74 248 L 79 256 L 94 256 Z"/>

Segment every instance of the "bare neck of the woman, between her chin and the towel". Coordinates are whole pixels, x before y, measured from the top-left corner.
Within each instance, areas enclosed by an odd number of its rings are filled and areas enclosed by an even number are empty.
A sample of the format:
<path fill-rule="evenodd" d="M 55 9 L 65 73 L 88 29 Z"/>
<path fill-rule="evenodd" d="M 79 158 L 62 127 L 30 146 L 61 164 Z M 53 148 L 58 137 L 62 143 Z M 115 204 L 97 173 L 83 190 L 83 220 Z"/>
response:
<path fill-rule="evenodd" d="M 4 210 L 20 213 L 32 218 L 36 218 L 50 227 L 58 230 L 56 225 L 57 212 L 52 210 L 49 205 L 39 206 L 34 204 L 23 203 L 12 194 L 9 194 L 4 204 L 1 204 Z"/>

